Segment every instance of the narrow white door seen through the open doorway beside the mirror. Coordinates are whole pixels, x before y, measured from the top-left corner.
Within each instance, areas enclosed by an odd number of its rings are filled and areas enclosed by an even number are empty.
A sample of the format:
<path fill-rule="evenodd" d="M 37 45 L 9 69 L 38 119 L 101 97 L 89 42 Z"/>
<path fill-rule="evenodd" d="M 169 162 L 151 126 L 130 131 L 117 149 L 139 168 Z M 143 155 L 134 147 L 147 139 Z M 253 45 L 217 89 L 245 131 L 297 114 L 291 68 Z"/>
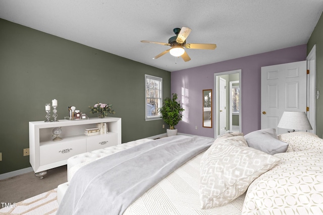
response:
<path fill-rule="evenodd" d="M 226 133 L 226 80 L 219 79 L 219 120 L 220 120 L 220 135 Z"/>

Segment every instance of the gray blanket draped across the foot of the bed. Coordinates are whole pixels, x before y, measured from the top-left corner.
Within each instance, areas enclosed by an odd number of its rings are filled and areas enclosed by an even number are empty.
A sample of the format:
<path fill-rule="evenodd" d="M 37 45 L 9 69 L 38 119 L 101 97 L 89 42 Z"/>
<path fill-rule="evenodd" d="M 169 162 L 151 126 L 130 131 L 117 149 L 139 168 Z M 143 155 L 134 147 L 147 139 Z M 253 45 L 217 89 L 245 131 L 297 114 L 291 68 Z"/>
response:
<path fill-rule="evenodd" d="M 85 165 L 72 178 L 57 214 L 122 214 L 140 195 L 212 142 L 198 136 L 165 137 Z"/>

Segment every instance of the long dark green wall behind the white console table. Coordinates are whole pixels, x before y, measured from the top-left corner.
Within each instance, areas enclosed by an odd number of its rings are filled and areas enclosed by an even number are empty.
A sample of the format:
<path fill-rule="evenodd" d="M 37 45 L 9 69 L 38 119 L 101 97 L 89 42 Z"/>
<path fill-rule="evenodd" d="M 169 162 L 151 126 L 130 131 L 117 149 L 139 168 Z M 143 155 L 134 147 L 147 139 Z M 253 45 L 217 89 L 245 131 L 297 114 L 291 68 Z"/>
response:
<path fill-rule="evenodd" d="M 88 106 L 113 104 L 122 142 L 165 133 L 163 120 L 145 121 L 145 74 L 163 78 L 163 96 L 171 96 L 169 71 L 0 19 L 0 174 L 30 167 L 28 122 L 45 120 L 54 98 L 58 119 L 68 106 L 96 117 Z"/>

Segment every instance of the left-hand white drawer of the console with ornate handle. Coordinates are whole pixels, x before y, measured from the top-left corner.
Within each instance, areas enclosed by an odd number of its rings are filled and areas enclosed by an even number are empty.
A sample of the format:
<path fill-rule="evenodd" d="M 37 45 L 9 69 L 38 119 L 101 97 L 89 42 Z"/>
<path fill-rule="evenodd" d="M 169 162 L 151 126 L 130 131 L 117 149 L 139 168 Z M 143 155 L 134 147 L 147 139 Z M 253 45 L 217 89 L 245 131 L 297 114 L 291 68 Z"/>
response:
<path fill-rule="evenodd" d="M 40 146 L 40 165 L 64 161 L 86 152 L 86 138 L 63 139 Z"/>

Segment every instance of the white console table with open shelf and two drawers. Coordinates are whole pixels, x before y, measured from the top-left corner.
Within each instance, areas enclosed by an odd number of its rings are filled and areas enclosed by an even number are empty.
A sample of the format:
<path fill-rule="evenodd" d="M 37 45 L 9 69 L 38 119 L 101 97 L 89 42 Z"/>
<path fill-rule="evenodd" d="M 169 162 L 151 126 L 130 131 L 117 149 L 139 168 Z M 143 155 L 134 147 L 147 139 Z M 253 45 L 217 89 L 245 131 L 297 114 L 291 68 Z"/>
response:
<path fill-rule="evenodd" d="M 86 136 L 85 128 L 106 123 L 108 133 Z M 61 127 L 60 141 L 52 129 Z M 121 118 L 88 118 L 84 120 L 61 119 L 58 122 L 29 122 L 29 161 L 35 175 L 43 178 L 46 170 L 67 164 L 67 159 L 93 150 L 121 144 Z"/>

